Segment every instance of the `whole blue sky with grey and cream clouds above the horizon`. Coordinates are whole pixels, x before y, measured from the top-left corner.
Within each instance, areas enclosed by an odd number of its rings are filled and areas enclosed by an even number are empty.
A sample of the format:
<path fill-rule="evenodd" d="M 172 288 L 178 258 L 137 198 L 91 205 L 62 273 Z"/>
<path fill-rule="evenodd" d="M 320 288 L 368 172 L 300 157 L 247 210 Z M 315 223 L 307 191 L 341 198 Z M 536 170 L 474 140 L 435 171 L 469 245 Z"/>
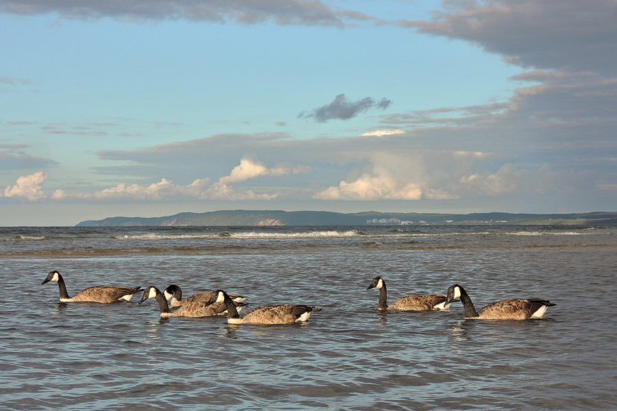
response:
<path fill-rule="evenodd" d="M 616 204 L 617 0 L 0 0 L 0 226 Z"/>

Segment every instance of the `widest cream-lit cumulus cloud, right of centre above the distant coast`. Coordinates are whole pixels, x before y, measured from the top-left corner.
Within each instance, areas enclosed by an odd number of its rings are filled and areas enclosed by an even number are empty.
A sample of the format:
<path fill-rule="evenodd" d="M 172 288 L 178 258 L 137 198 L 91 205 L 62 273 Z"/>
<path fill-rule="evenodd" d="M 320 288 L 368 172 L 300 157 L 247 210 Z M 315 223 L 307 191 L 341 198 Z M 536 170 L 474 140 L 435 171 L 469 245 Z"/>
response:
<path fill-rule="evenodd" d="M 322 200 L 450 200 L 465 197 L 517 195 L 542 190 L 548 175 L 504 164 L 496 172 L 479 171 L 491 153 L 418 151 L 373 155 L 370 166 L 337 186 L 317 192 Z"/>

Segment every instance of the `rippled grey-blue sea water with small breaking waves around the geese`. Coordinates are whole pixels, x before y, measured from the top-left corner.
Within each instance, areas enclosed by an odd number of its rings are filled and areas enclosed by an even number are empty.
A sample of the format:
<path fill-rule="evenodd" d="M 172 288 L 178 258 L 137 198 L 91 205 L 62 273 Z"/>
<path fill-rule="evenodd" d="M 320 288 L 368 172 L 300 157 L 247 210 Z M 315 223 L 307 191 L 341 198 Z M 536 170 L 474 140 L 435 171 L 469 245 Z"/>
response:
<path fill-rule="evenodd" d="M 1 410 L 615 410 L 617 227 L 3 227 Z M 60 303 L 101 284 L 222 288 L 304 324 L 160 319 L 156 301 Z M 458 283 L 544 319 L 377 310 Z M 242 314 L 242 313 L 241 313 Z"/>

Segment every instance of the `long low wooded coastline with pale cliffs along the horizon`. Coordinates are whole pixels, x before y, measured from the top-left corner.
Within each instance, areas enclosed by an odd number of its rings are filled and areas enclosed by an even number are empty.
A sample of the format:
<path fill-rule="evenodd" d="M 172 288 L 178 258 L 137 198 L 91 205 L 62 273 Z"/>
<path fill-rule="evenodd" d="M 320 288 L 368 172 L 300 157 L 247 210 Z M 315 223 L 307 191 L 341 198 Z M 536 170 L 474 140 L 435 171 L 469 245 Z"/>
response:
<path fill-rule="evenodd" d="M 162 217 L 108 217 L 82 221 L 75 227 L 187 227 L 187 226 L 277 226 L 277 225 L 617 225 L 617 212 L 571 214 L 516 214 L 486 212 L 472 214 L 431 214 L 401 212 L 326 212 L 282 210 L 221 210 L 181 212 Z"/>

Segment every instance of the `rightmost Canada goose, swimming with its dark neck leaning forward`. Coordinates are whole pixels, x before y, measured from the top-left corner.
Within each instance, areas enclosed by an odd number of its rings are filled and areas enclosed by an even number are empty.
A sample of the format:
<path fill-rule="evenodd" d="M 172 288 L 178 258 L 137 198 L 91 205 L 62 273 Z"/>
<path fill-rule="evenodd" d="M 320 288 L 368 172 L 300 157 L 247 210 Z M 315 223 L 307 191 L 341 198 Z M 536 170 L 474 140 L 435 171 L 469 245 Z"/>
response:
<path fill-rule="evenodd" d="M 455 284 L 448 288 L 448 300 L 450 303 L 455 299 L 461 299 L 465 308 L 465 319 L 482 320 L 527 320 L 541 319 L 548 307 L 555 303 L 540 298 L 509 298 L 494 303 L 489 303 L 480 311 L 476 311 L 469 295 L 463 287 Z"/>

